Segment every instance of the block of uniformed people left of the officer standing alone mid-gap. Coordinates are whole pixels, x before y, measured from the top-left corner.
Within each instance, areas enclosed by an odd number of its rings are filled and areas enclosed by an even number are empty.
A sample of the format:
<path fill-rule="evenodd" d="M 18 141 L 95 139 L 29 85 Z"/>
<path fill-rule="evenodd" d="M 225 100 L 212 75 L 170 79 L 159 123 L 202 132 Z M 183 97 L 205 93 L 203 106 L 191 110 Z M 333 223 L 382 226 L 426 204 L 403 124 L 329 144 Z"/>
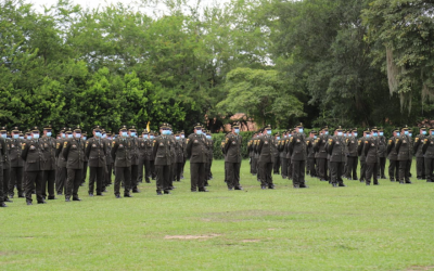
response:
<path fill-rule="evenodd" d="M 195 127 L 195 134 L 184 138 L 163 124 L 159 133 L 144 129 L 141 136 L 135 126 L 122 126 L 118 136 L 95 126 L 92 136 L 80 127 L 63 128 L 56 138 L 51 125 L 33 127 L 23 133 L 18 127 L 0 128 L 0 207 L 17 197 L 33 205 L 64 195 L 65 202 L 81 201 L 78 190 L 89 173 L 89 196 L 102 196 L 115 176 L 114 195 L 122 198 L 140 193 L 140 182 L 156 180 L 157 195 L 169 194 L 174 182 L 183 179 L 187 157 L 191 159 L 191 190 L 206 192 L 212 179 L 213 140 L 209 131 Z M 189 143 L 190 140 L 190 143 Z M 89 169 L 89 170 L 88 170 Z"/>

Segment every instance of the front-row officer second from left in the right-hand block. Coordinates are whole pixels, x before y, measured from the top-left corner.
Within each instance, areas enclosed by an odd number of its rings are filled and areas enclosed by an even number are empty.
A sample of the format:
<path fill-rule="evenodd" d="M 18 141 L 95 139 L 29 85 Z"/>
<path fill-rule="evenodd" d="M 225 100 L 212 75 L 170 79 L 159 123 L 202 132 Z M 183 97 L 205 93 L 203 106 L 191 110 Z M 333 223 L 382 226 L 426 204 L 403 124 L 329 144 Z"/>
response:
<path fill-rule="evenodd" d="M 292 154 L 292 178 L 294 189 L 308 188 L 305 183 L 305 167 L 306 167 L 306 137 L 304 134 L 303 124 L 295 127 L 294 132 L 290 139 L 289 150 Z"/>

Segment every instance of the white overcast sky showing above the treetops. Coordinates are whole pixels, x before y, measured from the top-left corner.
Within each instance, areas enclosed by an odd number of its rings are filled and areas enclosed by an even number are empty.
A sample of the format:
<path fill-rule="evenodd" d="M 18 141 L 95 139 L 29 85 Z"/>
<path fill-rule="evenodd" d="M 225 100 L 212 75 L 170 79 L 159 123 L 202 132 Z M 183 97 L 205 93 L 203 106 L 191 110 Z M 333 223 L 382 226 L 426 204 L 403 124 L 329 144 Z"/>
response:
<path fill-rule="evenodd" d="M 39 11 L 42 12 L 43 11 L 43 5 L 46 7 L 50 7 L 53 5 L 55 3 L 58 3 L 58 0 L 27 0 L 31 3 L 35 4 L 35 8 Z M 131 7 L 137 7 L 139 8 L 139 4 L 137 2 L 140 2 L 140 0 L 72 0 L 75 4 L 79 4 L 84 8 L 98 8 L 100 7 L 104 7 L 111 3 L 117 3 L 117 2 L 122 2 L 124 4 L 130 4 Z M 219 4 L 229 2 L 230 0 L 202 0 L 201 1 L 201 5 L 209 5 L 213 2 L 217 2 Z M 189 0 L 189 2 L 191 3 L 196 3 L 196 0 Z M 153 9 L 154 11 L 159 11 L 159 12 L 164 12 L 164 5 L 159 4 L 157 7 L 155 7 Z M 158 12 L 158 13 L 159 13 Z M 146 13 L 149 13 L 150 15 L 152 14 L 152 11 L 146 9 Z"/>

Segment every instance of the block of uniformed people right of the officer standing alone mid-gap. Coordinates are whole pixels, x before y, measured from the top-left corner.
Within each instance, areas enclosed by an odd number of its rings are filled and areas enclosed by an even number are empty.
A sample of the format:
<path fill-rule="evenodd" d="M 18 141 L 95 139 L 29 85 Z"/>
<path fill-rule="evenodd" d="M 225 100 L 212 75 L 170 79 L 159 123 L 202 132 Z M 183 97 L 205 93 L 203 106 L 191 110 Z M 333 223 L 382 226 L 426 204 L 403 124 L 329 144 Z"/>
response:
<path fill-rule="evenodd" d="M 257 176 L 261 189 L 273 189 L 272 172 L 293 181 L 295 189 L 308 188 L 305 175 L 329 181 L 333 186 L 346 186 L 344 179 L 379 185 L 386 177 L 392 182 L 411 183 L 410 169 L 416 156 L 417 179 L 434 182 L 434 128 L 421 127 L 414 138 L 407 126 L 393 130 L 386 139 L 382 128 L 366 129 L 359 137 L 357 128 L 329 127 L 304 133 L 303 124 L 282 134 L 271 136 L 271 127 L 260 129 L 248 141 L 251 173 Z M 358 163 L 360 170 L 358 178 Z"/>

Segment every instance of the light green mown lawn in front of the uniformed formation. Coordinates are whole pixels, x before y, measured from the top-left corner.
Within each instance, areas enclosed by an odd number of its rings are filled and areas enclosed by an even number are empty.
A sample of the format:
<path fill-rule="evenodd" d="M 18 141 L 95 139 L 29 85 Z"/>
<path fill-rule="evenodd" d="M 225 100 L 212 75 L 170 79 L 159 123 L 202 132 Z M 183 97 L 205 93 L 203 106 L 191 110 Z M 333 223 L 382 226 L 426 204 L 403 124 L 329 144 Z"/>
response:
<path fill-rule="evenodd" d="M 414 173 L 414 164 L 413 176 Z M 244 191 L 228 191 L 214 162 L 210 193 L 186 179 L 116 199 L 64 197 L 0 209 L 0 270 L 429 270 L 434 269 L 434 183 L 294 190 L 273 176 L 263 191 L 242 164 Z M 36 201 L 35 201 L 36 203 Z"/>

